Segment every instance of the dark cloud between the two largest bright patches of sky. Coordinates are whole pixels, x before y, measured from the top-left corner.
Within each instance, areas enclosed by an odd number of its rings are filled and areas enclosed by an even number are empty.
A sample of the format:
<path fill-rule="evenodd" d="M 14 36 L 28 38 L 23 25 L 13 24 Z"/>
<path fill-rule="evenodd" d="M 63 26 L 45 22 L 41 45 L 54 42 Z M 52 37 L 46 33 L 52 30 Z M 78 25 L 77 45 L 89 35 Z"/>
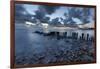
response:
<path fill-rule="evenodd" d="M 44 6 L 40 5 L 38 7 L 38 10 L 35 11 L 34 17 L 36 19 L 39 19 L 43 22 L 48 22 L 50 20 L 50 17 L 46 17 L 47 14 L 51 15 L 54 13 L 59 7 L 58 6 Z"/>

